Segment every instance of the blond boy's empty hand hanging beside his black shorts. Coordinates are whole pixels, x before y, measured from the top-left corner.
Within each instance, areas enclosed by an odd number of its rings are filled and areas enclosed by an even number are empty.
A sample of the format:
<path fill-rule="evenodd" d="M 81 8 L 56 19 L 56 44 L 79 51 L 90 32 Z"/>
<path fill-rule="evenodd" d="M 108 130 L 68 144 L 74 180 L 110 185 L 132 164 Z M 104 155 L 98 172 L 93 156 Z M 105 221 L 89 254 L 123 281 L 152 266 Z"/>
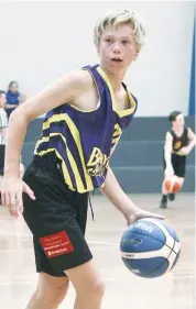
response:
<path fill-rule="evenodd" d="M 31 188 L 18 177 L 3 177 L 1 187 L 1 202 L 8 207 L 10 216 L 18 218 L 23 212 L 22 192 L 35 200 Z"/>

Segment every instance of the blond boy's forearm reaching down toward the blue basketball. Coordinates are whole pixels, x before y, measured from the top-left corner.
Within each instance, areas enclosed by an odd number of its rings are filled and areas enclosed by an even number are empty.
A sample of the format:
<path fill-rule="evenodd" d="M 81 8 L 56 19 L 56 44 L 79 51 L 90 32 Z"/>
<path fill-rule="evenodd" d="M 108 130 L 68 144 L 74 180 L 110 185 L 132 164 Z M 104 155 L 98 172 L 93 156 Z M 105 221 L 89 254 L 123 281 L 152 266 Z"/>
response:
<path fill-rule="evenodd" d="M 106 177 L 105 187 L 101 191 L 126 218 L 138 210 L 138 207 L 121 189 L 110 167 Z"/>

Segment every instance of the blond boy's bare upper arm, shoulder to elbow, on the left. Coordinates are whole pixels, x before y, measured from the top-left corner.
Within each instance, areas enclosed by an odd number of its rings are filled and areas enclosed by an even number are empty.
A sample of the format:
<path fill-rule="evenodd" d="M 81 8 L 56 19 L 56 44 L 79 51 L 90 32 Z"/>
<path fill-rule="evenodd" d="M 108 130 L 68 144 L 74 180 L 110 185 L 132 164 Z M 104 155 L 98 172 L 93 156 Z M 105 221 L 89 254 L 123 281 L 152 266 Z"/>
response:
<path fill-rule="evenodd" d="M 91 85 L 92 80 L 88 71 L 81 69 L 72 71 L 20 104 L 14 114 L 31 121 L 67 102 L 77 106 L 79 95 L 87 91 Z"/>

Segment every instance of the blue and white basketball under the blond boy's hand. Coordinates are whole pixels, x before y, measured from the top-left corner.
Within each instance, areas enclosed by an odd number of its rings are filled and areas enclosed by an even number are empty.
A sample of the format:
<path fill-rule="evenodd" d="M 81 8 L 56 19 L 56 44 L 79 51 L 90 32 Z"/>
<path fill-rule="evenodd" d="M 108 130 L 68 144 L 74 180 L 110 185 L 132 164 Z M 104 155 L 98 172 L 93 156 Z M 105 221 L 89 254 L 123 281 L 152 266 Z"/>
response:
<path fill-rule="evenodd" d="M 168 273 L 181 254 L 179 239 L 172 227 L 159 219 L 140 219 L 123 233 L 121 258 L 135 275 L 154 278 Z"/>

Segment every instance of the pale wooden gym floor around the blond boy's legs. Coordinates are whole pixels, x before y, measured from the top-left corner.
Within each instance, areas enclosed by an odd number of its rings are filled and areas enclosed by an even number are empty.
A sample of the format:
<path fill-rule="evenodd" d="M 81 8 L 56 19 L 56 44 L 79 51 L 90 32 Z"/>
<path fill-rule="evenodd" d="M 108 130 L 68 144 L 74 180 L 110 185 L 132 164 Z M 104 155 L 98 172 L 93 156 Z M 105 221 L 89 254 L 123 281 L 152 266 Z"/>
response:
<path fill-rule="evenodd" d="M 160 278 L 144 279 L 130 273 L 119 253 L 126 221 L 105 197 L 92 197 L 95 221 L 89 209 L 86 238 L 106 283 L 101 309 L 120 309 L 122 306 L 133 309 L 194 309 L 194 194 L 179 194 L 163 210 L 159 208 L 159 195 L 132 195 L 132 200 L 146 210 L 166 216 L 181 239 L 181 257 L 174 269 Z M 0 309 L 24 309 L 36 283 L 32 235 L 22 218 L 11 218 L 0 206 Z M 73 308 L 74 298 L 70 285 L 59 308 Z"/>

